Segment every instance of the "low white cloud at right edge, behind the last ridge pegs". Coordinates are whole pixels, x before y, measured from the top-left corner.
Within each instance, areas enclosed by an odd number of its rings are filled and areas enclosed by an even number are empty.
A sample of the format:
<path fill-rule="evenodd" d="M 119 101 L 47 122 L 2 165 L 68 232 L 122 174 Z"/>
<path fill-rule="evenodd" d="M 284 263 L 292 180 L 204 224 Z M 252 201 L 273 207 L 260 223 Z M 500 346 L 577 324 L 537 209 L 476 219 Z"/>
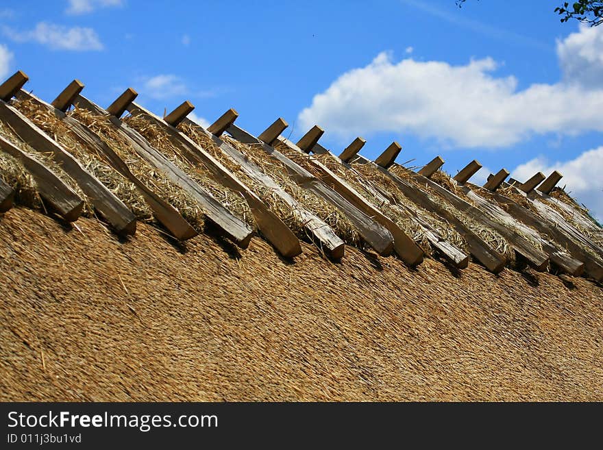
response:
<path fill-rule="evenodd" d="M 515 168 L 511 176 L 525 182 L 534 173 L 550 175 L 552 171 L 563 174 L 560 186 L 566 186 L 573 197 L 587 205 L 599 221 L 603 222 L 603 146 L 584 151 L 574 160 L 550 162 L 539 156 Z"/>

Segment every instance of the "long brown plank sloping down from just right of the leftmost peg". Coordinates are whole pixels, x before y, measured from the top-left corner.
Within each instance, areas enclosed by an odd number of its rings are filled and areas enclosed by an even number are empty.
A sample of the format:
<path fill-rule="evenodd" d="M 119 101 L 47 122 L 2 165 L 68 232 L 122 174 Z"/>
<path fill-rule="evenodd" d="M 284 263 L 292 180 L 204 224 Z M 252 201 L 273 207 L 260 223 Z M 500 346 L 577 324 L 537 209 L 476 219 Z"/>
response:
<path fill-rule="evenodd" d="M 19 100 L 34 101 L 38 106 L 46 108 L 49 112 L 63 121 L 86 148 L 106 158 L 106 161 L 112 168 L 119 172 L 123 177 L 129 179 L 130 182 L 136 186 L 140 195 L 143 196 L 147 205 L 151 208 L 153 216 L 155 216 L 155 218 L 162 223 L 176 239 L 188 240 L 197 236 L 197 231 L 190 226 L 180 212 L 167 203 L 167 201 L 164 201 L 164 199 L 156 195 L 156 193 L 149 189 L 146 184 L 141 182 L 140 179 L 130 171 L 127 164 L 123 162 L 119 155 L 117 155 L 106 142 L 99 138 L 99 136 L 88 127 L 79 123 L 75 118 L 64 114 L 64 112 L 58 108 L 54 108 L 52 105 L 49 105 L 49 103 L 39 99 L 35 95 L 25 92 L 23 89 L 16 93 L 16 97 Z M 67 105 L 67 108 L 69 108 L 69 106 L 70 105 Z"/>

